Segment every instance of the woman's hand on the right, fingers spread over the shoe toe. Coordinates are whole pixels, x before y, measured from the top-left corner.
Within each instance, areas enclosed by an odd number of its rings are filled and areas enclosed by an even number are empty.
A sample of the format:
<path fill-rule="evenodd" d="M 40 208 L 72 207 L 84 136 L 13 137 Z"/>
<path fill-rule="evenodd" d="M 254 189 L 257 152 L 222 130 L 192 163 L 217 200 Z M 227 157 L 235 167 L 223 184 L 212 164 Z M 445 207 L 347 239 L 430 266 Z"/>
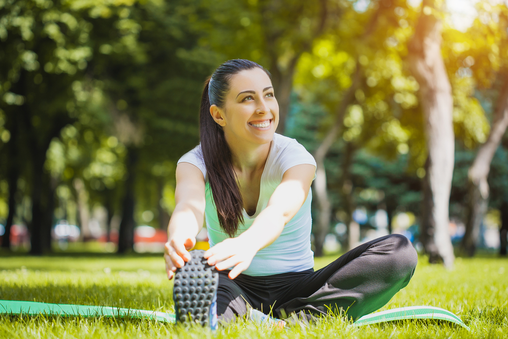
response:
<path fill-rule="evenodd" d="M 208 259 L 208 265 L 215 265 L 219 271 L 234 266 L 228 276 L 230 279 L 235 279 L 249 267 L 258 251 L 259 247 L 256 247 L 252 241 L 239 236 L 219 242 L 206 251 L 203 257 Z"/>

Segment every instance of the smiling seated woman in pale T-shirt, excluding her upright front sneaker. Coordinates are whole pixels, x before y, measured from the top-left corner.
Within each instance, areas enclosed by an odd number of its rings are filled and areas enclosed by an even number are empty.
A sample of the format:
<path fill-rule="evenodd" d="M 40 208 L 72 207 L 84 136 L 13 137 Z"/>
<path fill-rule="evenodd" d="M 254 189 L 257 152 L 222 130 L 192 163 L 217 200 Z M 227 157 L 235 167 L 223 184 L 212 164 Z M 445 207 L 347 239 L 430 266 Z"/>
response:
<path fill-rule="evenodd" d="M 204 258 L 219 272 L 219 321 L 244 315 L 247 304 L 282 319 L 347 312 L 356 320 L 407 285 L 416 251 L 404 236 L 389 235 L 314 272 L 310 186 L 316 165 L 296 140 L 275 133 L 278 121 L 270 74 L 260 65 L 229 60 L 207 81 L 201 143 L 176 169 L 164 255 L 168 278 L 191 260 L 187 250 L 205 215 L 211 248 Z"/>

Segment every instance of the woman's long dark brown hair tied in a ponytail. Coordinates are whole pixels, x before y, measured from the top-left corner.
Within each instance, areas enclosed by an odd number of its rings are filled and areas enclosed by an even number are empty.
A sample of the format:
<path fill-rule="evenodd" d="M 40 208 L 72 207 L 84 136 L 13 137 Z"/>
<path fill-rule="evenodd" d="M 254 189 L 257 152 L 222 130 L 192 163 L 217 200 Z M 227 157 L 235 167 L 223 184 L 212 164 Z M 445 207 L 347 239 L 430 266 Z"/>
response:
<path fill-rule="evenodd" d="M 206 81 L 200 107 L 200 142 L 206 173 L 213 202 L 217 208 L 220 227 L 230 237 L 234 237 L 243 223 L 243 200 L 236 183 L 236 175 L 231 161 L 231 149 L 224 137 L 224 131 L 210 114 L 210 106 L 223 108 L 230 88 L 231 78 L 245 70 L 262 66 L 245 59 L 228 60 L 220 65 Z"/>

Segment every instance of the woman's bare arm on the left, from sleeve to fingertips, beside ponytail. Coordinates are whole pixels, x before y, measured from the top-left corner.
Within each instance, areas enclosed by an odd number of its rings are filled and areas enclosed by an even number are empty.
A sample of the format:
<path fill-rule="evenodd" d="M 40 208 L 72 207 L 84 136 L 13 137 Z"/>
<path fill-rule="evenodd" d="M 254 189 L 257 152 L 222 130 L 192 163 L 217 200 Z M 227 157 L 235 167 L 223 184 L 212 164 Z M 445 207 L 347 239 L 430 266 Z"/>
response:
<path fill-rule="evenodd" d="M 175 210 L 168 226 L 168 242 L 164 259 L 168 279 L 176 268 L 190 260 L 190 250 L 196 244 L 196 235 L 203 227 L 205 212 L 205 179 L 196 166 L 180 163 L 176 167 Z"/>

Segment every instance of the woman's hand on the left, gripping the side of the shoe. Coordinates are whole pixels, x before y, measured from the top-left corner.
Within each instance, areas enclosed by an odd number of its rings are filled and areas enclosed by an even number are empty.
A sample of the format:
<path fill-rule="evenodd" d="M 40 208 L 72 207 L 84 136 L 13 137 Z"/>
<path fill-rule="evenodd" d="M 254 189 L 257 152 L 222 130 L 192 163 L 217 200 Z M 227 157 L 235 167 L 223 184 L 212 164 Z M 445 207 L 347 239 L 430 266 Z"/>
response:
<path fill-rule="evenodd" d="M 182 268 L 185 262 L 191 259 L 188 250 L 196 244 L 196 237 L 193 236 L 174 236 L 168 239 L 164 245 L 164 260 L 166 261 L 166 273 L 168 279 L 173 278 L 173 273 L 177 268 Z"/>

